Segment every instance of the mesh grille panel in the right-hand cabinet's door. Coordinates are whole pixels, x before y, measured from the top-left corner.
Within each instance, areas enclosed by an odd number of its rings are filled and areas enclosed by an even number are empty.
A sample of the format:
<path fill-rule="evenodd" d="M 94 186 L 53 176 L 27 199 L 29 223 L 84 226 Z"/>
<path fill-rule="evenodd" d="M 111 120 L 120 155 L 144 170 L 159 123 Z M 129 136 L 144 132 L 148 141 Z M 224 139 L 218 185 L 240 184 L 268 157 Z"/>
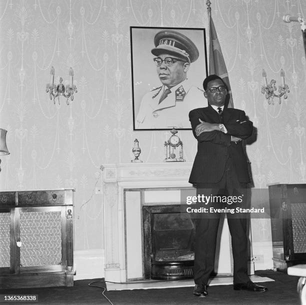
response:
<path fill-rule="evenodd" d="M 291 204 L 294 253 L 306 252 L 306 203 Z"/>

